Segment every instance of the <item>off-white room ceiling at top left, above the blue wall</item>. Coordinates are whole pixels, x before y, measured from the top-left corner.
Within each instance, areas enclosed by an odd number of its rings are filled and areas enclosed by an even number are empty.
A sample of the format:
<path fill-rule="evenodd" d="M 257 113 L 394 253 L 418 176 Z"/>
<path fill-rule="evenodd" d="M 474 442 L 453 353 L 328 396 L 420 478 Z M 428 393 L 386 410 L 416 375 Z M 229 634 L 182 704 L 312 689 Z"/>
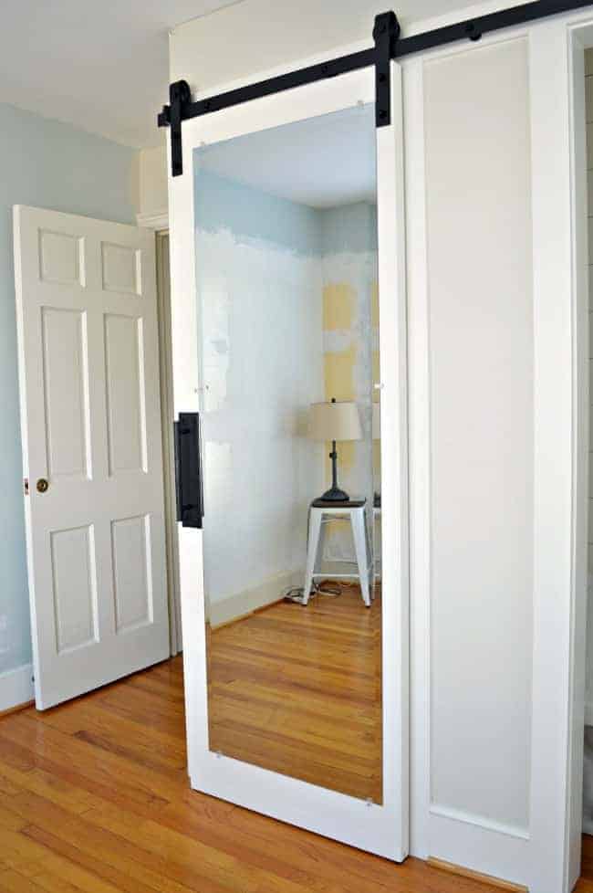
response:
<path fill-rule="evenodd" d="M 158 145 L 155 116 L 167 101 L 169 30 L 234 2 L 248 0 L 4 0 L 0 101 L 130 146 Z M 270 11 L 277 14 L 287 2 L 270 0 Z M 453 4 L 392 5 L 405 26 Z M 454 0 L 455 8 L 469 5 L 473 0 Z M 232 47 L 222 42 L 220 52 Z"/>

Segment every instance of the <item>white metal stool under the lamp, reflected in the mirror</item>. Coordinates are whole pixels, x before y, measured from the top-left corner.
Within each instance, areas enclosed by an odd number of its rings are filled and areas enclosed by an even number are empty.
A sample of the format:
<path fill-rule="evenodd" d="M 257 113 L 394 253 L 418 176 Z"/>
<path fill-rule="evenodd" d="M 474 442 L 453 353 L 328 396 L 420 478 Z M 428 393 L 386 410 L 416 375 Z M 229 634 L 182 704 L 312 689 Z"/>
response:
<path fill-rule="evenodd" d="M 309 507 L 309 536 L 307 544 L 307 570 L 305 572 L 305 587 L 303 589 L 303 604 L 307 604 L 311 592 L 311 584 L 317 577 L 331 577 L 332 580 L 359 580 L 360 594 L 367 607 L 370 607 L 370 562 L 369 544 L 367 539 L 366 524 L 366 499 L 349 499 L 348 502 L 325 502 L 323 499 L 315 499 Z M 330 518 L 349 517 L 354 540 L 354 551 L 359 573 L 317 573 L 315 565 L 317 552 L 321 545 L 323 553 L 322 527 L 324 516 Z"/>

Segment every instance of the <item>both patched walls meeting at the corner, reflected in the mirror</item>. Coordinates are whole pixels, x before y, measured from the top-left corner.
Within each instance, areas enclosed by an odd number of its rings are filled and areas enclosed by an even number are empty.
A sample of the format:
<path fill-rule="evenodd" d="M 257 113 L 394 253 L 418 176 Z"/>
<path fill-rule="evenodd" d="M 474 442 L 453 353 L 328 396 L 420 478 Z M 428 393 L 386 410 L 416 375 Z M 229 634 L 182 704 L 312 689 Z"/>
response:
<path fill-rule="evenodd" d="M 196 153 L 195 186 L 213 625 L 302 585 L 307 506 L 330 478 L 329 446 L 307 436 L 311 403 L 359 404 L 365 437 L 338 444 L 340 482 L 372 500 L 378 345 L 375 206 L 277 198 L 212 173 L 215 152 Z M 328 525 L 328 561 L 353 559 L 345 526 Z"/>

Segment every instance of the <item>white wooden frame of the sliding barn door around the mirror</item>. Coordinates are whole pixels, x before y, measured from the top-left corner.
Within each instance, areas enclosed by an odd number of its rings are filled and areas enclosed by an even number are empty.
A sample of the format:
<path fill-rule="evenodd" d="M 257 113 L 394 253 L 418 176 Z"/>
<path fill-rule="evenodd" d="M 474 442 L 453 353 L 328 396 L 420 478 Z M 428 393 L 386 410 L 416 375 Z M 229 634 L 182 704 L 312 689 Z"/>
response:
<path fill-rule="evenodd" d="M 391 84 L 392 123 L 378 131 L 377 143 L 382 530 L 389 543 L 383 549 L 383 805 L 209 751 L 201 531 L 180 527 L 179 543 L 192 787 L 401 861 L 408 854 L 409 825 L 409 584 L 401 68 L 394 63 Z M 374 101 L 373 68 L 183 122 L 183 174 L 169 181 L 176 415 L 199 408 L 193 150 L 203 143 L 347 109 L 359 101 Z"/>

